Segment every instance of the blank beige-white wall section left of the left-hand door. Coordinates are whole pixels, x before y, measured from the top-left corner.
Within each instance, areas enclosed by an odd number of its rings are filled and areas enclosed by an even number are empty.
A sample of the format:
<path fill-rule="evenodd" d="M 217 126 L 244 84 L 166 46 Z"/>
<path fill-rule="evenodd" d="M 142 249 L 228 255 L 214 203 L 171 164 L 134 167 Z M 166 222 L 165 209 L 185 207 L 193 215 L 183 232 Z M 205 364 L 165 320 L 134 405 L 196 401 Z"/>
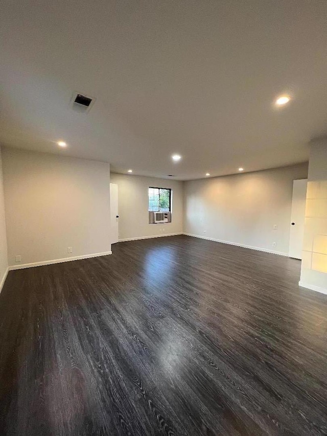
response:
<path fill-rule="evenodd" d="M 109 164 L 4 148 L 3 170 L 9 265 L 110 251 Z"/>

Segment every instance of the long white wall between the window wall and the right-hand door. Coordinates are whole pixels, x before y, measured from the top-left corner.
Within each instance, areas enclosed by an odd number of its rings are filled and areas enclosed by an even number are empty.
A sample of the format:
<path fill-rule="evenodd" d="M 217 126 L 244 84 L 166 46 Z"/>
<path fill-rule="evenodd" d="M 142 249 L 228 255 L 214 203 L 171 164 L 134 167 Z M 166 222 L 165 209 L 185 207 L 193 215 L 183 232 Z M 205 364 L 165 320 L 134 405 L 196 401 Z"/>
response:
<path fill-rule="evenodd" d="M 293 180 L 307 176 L 301 164 L 186 181 L 184 232 L 288 254 Z"/>

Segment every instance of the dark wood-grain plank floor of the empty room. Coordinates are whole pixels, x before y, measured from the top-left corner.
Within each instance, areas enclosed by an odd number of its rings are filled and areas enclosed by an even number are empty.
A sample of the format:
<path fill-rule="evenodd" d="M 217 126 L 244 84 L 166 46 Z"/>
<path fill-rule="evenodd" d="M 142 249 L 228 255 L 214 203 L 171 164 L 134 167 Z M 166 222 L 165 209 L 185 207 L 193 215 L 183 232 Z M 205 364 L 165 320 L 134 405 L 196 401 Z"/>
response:
<path fill-rule="evenodd" d="M 0 434 L 327 434 L 327 296 L 187 236 L 9 272 Z"/>

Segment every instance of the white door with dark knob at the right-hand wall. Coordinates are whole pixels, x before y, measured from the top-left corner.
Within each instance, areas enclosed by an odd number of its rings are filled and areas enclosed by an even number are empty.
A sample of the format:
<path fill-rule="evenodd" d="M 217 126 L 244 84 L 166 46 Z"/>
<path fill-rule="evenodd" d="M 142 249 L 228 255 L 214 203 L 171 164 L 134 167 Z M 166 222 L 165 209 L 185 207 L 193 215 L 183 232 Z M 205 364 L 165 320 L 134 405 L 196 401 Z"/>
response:
<path fill-rule="evenodd" d="M 293 181 L 289 257 L 302 259 L 308 179 Z"/>

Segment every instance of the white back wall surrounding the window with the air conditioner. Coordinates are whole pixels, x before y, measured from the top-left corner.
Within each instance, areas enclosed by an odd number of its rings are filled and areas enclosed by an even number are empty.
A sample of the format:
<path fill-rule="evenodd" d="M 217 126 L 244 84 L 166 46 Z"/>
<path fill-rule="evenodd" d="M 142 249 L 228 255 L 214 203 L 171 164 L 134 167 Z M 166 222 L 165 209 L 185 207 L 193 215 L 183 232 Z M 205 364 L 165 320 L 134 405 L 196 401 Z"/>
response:
<path fill-rule="evenodd" d="M 119 239 L 138 239 L 183 232 L 183 182 L 111 173 L 118 185 Z M 172 189 L 172 222 L 149 224 L 149 187 Z M 164 231 L 161 231 L 164 230 Z"/>

